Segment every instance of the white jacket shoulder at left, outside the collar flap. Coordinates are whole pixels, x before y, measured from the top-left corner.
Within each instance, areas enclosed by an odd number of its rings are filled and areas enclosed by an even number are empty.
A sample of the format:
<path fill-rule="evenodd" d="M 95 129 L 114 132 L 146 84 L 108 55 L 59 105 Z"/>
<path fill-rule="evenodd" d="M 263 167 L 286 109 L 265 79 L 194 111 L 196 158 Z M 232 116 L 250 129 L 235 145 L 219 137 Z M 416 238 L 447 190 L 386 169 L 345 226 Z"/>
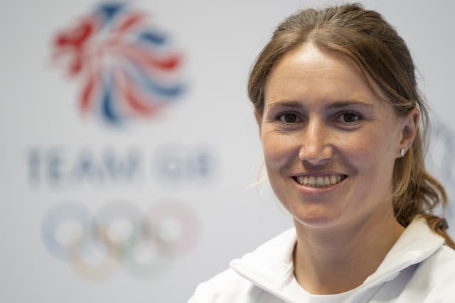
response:
<path fill-rule="evenodd" d="M 252 282 L 230 268 L 200 283 L 188 303 L 255 302 L 259 292 Z"/>

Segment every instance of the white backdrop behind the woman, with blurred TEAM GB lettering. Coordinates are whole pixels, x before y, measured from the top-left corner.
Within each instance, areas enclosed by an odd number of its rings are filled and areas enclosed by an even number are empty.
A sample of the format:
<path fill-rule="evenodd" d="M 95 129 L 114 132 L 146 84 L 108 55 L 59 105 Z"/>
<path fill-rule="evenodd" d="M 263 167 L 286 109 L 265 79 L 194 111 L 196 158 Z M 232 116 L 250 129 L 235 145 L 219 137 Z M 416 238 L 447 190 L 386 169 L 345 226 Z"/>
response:
<path fill-rule="evenodd" d="M 406 2 L 363 4 L 383 13 L 412 50 L 435 116 L 429 165 L 454 197 L 455 4 Z M 68 77 L 68 62 L 53 60 L 58 33 L 101 2 L 4 3 L 0 302 L 186 302 L 198 282 L 291 226 L 267 184 L 247 188 L 257 179 L 262 153 L 246 78 L 282 18 L 326 3 L 332 2 L 130 3 L 132 11 L 151 13 L 145 28 L 159 28 L 182 55 L 170 83 L 184 89 L 162 101 L 157 116 L 121 124 L 107 121 L 100 98 L 82 112 L 81 77 Z M 73 221 L 59 221 L 65 214 Z M 134 229 L 143 215 L 159 224 L 158 235 L 142 225 Z M 92 253 L 92 246 L 75 249 L 94 216 L 98 224 L 123 220 L 106 233 L 127 244 L 115 246 L 114 256 L 102 248 Z M 133 231 L 142 242 L 130 251 L 124 247 L 132 246 Z"/>

